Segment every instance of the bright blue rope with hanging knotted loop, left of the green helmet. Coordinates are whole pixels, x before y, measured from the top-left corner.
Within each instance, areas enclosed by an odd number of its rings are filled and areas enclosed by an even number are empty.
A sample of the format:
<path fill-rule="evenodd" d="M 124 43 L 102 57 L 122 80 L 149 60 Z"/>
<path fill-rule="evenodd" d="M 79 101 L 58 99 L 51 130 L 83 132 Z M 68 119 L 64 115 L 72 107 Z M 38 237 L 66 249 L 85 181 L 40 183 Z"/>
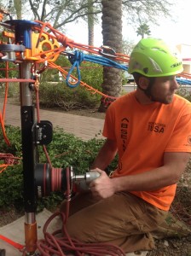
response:
<path fill-rule="evenodd" d="M 128 70 L 128 67 L 123 65 L 123 64 L 119 64 L 116 61 L 110 60 L 106 57 L 102 57 L 102 56 L 96 56 L 96 55 L 84 55 L 83 52 L 80 52 L 78 50 L 74 51 L 74 54 L 68 54 L 68 59 L 69 61 L 72 63 L 72 67 L 69 70 L 69 72 L 67 73 L 67 85 L 71 88 L 77 87 L 78 84 L 80 84 L 80 79 L 81 79 L 81 75 L 80 75 L 80 70 L 79 70 L 79 66 L 81 64 L 82 61 L 91 61 L 97 64 L 100 64 L 102 66 L 106 66 L 106 67 L 115 67 L 115 68 L 119 68 L 119 69 L 123 69 L 123 70 Z M 77 73 L 78 73 L 78 81 L 75 84 L 71 84 L 69 79 L 71 76 L 71 73 L 73 71 L 74 68 L 77 68 Z"/>

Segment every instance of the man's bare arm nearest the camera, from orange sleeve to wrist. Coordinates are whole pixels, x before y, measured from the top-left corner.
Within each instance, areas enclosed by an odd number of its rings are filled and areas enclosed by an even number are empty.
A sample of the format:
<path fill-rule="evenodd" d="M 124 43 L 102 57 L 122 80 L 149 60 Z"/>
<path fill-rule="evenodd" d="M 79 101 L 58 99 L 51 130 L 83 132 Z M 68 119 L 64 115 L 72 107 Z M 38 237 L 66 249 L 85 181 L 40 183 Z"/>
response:
<path fill-rule="evenodd" d="M 164 166 L 148 172 L 113 178 L 116 191 L 152 191 L 177 183 L 184 172 L 190 154 L 166 152 Z"/>

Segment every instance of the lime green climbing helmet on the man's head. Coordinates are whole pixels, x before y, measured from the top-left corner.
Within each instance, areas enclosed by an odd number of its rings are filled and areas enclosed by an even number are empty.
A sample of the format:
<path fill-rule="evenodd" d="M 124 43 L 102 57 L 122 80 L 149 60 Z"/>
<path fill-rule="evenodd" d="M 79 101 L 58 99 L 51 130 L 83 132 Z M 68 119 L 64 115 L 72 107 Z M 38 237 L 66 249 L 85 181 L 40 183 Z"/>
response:
<path fill-rule="evenodd" d="M 146 77 L 165 77 L 182 73 L 182 59 L 164 41 L 143 38 L 130 55 L 128 73 L 142 73 Z"/>

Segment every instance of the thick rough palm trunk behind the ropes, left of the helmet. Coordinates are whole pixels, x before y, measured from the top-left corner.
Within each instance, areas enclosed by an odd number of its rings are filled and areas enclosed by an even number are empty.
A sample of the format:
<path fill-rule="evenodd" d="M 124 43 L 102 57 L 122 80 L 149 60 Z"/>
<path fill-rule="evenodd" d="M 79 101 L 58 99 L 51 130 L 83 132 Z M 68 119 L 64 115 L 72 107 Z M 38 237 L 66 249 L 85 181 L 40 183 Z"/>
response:
<path fill-rule="evenodd" d="M 102 35 L 103 45 L 116 52 L 122 51 L 122 0 L 102 0 Z M 121 70 L 114 67 L 103 68 L 102 92 L 118 97 L 122 87 Z M 101 100 L 99 112 L 105 112 L 110 102 Z"/>

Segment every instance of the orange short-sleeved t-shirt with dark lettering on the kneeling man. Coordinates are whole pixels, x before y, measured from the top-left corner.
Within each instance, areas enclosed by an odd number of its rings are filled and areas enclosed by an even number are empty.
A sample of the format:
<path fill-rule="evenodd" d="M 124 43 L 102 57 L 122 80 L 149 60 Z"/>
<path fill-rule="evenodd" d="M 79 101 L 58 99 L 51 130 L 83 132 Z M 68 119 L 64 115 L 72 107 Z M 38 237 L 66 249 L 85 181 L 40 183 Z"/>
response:
<path fill-rule="evenodd" d="M 103 136 L 116 140 L 119 166 L 113 177 L 163 166 L 164 152 L 191 152 L 191 103 L 174 96 L 171 104 L 142 105 L 135 92 L 119 97 L 107 109 Z M 168 211 L 177 185 L 156 191 L 130 191 Z"/>

